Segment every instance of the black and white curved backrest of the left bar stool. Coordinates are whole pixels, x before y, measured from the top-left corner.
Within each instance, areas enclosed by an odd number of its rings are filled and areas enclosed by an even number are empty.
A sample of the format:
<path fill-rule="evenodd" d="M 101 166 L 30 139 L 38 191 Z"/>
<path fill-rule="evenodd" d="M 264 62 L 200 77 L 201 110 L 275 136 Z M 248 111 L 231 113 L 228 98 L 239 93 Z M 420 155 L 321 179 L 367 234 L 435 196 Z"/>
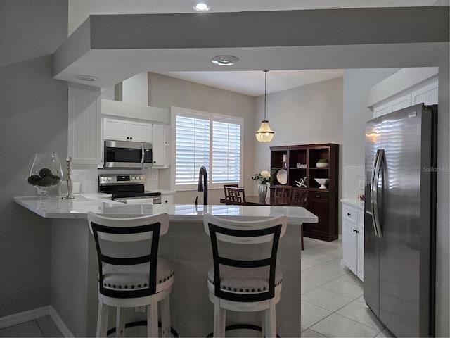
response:
<path fill-rule="evenodd" d="M 98 256 L 99 292 L 115 298 L 150 296 L 156 292 L 156 271 L 160 235 L 169 230 L 169 215 L 145 215 L 134 218 L 109 217 L 89 212 L 89 229 L 94 234 Z M 148 264 L 149 285 L 139 289 L 107 289 L 103 285 L 103 267 Z"/>

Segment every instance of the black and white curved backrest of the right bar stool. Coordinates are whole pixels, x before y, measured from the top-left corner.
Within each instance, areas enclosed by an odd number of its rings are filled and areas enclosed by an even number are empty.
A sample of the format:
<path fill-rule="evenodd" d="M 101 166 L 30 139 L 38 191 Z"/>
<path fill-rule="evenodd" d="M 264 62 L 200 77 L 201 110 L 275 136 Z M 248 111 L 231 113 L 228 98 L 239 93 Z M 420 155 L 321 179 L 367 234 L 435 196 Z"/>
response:
<path fill-rule="evenodd" d="M 261 220 L 237 221 L 231 218 L 221 218 L 209 213 L 203 215 L 205 232 L 210 236 L 212 245 L 212 257 L 214 263 L 214 281 L 220 281 L 221 265 L 234 268 L 258 268 L 268 267 L 267 278 L 269 289 L 260 293 L 236 293 L 221 289 L 220 282 L 214 283 L 214 294 L 221 299 L 229 301 L 265 301 L 274 298 L 275 271 L 278 241 L 286 231 L 287 218 L 280 215 L 274 218 L 262 218 Z M 231 244 L 264 244 L 271 242 L 271 253 L 268 258 L 229 258 L 219 253 L 219 243 Z"/>

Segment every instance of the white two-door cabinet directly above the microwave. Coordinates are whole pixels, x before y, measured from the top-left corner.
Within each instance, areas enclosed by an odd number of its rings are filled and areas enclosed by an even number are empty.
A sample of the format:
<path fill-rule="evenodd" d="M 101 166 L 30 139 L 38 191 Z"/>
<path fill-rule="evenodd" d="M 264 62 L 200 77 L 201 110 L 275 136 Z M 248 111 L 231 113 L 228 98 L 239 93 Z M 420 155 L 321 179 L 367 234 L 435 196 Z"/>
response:
<path fill-rule="evenodd" d="M 131 120 L 103 118 L 103 139 L 152 142 L 152 124 Z"/>

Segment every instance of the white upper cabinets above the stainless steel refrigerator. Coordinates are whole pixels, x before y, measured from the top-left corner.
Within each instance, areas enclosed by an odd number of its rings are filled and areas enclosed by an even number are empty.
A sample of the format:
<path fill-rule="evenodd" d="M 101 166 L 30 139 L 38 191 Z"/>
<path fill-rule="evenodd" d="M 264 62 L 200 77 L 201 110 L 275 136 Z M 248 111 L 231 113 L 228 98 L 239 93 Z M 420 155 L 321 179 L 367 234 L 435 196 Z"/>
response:
<path fill-rule="evenodd" d="M 416 104 L 437 104 L 437 68 L 403 68 L 373 86 L 368 108 L 373 118 Z"/>

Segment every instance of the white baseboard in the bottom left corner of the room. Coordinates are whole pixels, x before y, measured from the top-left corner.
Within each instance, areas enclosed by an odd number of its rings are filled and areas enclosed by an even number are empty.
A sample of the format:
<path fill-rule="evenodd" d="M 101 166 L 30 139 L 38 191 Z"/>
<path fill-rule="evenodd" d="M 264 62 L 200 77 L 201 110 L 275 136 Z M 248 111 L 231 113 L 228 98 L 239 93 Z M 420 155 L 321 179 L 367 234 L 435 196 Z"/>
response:
<path fill-rule="evenodd" d="M 13 325 L 23 324 L 30 320 L 37 320 L 39 318 L 49 315 L 55 323 L 58 330 L 60 330 L 63 337 L 73 337 L 72 332 L 65 325 L 64 321 L 60 318 L 53 306 L 42 306 L 41 308 L 33 308 L 32 310 L 23 311 L 20 313 L 14 313 L 13 315 L 6 315 L 0 318 L 0 329 L 10 327 Z"/>

